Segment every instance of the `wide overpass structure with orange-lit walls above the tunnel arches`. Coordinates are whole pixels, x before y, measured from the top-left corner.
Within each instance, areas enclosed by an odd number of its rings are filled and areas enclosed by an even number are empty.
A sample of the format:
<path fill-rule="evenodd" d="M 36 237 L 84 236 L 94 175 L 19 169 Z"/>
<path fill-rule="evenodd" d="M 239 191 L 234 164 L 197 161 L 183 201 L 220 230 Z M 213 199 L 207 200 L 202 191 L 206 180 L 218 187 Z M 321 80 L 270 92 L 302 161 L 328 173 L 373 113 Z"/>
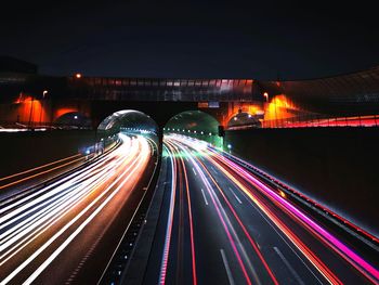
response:
<path fill-rule="evenodd" d="M 309 116 L 376 115 L 379 67 L 292 81 L 1 73 L 0 102 L 2 124 L 34 126 L 86 117 L 94 127 L 109 114 L 125 108 L 146 113 L 159 127 L 177 114 L 193 109 L 212 115 L 224 127 L 232 119 L 243 121 L 240 114 L 260 122 Z"/>

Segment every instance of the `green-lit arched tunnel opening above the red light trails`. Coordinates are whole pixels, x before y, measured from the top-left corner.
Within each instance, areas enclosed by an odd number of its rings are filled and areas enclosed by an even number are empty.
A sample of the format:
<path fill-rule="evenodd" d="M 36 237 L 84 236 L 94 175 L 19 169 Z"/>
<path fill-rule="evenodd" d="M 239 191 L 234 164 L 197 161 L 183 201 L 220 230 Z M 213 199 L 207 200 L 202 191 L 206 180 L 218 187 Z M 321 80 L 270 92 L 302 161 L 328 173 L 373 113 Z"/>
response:
<path fill-rule="evenodd" d="M 173 116 L 165 126 L 164 133 L 178 133 L 202 140 L 222 147 L 219 121 L 201 111 L 186 111 Z"/>

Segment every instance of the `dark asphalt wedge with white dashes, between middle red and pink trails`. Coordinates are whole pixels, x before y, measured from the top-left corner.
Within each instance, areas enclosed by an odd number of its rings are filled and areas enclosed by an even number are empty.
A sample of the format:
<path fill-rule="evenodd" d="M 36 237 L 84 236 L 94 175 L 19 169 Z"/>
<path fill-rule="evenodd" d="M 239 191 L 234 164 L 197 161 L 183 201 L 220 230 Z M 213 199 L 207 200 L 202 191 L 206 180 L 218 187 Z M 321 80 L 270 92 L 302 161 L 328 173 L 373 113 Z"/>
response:
<path fill-rule="evenodd" d="M 199 284 L 246 284 L 220 217 L 204 182 L 186 163 L 193 200 L 196 271 Z M 196 174 L 195 174 L 196 172 Z"/>

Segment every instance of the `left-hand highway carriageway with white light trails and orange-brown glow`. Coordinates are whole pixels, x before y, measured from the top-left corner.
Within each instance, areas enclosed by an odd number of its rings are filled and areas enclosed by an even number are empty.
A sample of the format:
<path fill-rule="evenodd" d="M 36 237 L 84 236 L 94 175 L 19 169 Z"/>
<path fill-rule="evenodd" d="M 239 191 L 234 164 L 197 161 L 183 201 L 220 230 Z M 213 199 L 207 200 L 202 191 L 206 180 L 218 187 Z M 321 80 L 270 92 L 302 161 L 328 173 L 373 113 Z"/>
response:
<path fill-rule="evenodd" d="M 89 166 L 1 202 L 1 284 L 99 281 L 154 165 L 147 139 L 119 135 L 122 143 Z"/>

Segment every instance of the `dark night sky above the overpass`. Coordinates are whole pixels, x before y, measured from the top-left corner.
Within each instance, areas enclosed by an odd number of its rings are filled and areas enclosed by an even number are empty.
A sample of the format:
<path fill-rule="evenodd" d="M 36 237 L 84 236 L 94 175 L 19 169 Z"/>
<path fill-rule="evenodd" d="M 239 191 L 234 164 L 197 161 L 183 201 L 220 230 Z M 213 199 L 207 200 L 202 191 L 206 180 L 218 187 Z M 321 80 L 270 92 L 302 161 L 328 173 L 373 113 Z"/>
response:
<path fill-rule="evenodd" d="M 10 2 L 0 54 L 44 74 L 291 79 L 379 64 L 368 1 Z"/>

